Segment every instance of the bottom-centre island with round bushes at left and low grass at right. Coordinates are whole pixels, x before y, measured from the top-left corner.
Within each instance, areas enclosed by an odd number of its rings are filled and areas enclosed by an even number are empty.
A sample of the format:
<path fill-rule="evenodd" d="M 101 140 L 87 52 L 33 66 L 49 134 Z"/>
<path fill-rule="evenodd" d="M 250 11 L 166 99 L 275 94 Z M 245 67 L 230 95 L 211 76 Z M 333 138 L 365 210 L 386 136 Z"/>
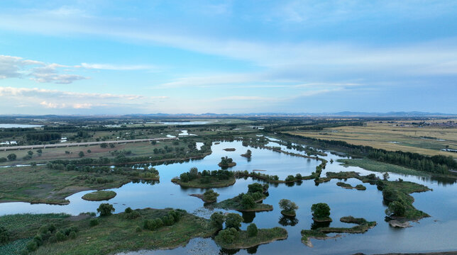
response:
<path fill-rule="evenodd" d="M 224 221 L 226 229 L 219 231 L 214 241 L 225 249 L 248 249 L 259 244 L 268 244 L 276 240 L 287 239 L 287 230 L 281 227 L 258 229 L 254 223 L 251 223 L 246 231 L 241 230 L 243 217 L 237 213 L 223 215 L 221 212 L 214 212 L 211 215 L 211 225 L 213 227 L 222 229 Z"/>

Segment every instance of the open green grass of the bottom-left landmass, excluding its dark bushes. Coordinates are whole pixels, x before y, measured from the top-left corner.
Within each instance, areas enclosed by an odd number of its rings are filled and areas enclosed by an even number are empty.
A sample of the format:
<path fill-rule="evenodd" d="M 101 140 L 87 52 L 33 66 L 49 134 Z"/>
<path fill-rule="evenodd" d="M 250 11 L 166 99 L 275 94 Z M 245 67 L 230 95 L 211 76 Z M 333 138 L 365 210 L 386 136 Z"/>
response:
<path fill-rule="evenodd" d="M 0 217 L 0 222 L 9 222 L 11 219 L 16 219 L 15 222 L 18 222 L 25 217 L 25 220 L 16 223 L 17 227 L 11 224 L 7 226 L 12 233 L 23 232 L 22 237 L 13 234 L 9 244 L 13 244 L 18 239 L 34 237 L 40 226 L 53 223 L 56 230 L 51 232 L 50 239 L 43 239 L 43 243 L 33 254 L 116 254 L 138 249 L 166 249 L 185 244 L 194 237 L 209 237 L 216 232 L 216 228 L 211 227 L 209 220 L 183 210 L 174 210 L 180 212 L 180 219 L 172 225 L 163 225 L 152 231 L 143 229 L 145 220 L 169 217 L 171 211 L 171 209 L 150 208 L 133 210 L 138 212 L 138 217 L 127 217 L 126 215 L 133 212 L 123 212 L 98 217 L 99 224 L 92 226 L 89 222 L 94 218 L 72 219 L 68 215 L 33 215 L 33 220 L 29 215 L 7 215 Z M 60 241 L 51 242 L 51 238 L 57 235 L 58 229 L 64 228 L 73 228 L 77 231 L 75 234 L 62 237 Z"/>

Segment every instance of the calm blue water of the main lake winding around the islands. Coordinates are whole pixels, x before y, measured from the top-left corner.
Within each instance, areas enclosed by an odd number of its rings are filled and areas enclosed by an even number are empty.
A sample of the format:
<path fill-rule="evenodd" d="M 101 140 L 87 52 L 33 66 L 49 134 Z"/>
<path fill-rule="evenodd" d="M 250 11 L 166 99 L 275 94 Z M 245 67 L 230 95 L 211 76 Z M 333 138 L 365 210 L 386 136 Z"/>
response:
<path fill-rule="evenodd" d="M 278 146 L 272 142 L 270 146 Z M 226 152 L 224 148 L 236 148 L 235 152 Z M 294 149 L 286 149 L 289 152 L 302 153 Z M 213 210 L 204 208 L 203 202 L 199 198 L 189 196 L 192 193 L 203 193 L 205 190 L 200 188 L 181 188 L 170 180 L 179 176 L 182 172 L 189 171 L 190 167 L 197 166 L 202 171 L 204 169 L 217 169 L 221 157 L 228 156 L 237 163 L 232 170 L 266 170 L 265 174 L 276 174 L 280 179 L 285 179 L 289 174 L 300 173 L 302 176 L 311 174 L 319 161 L 302 157 L 292 157 L 267 149 L 255 149 L 243 147 L 241 142 L 221 142 L 219 145 L 211 147 L 213 153 L 202 160 L 192 162 L 176 163 L 155 166 L 160 172 L 160 183 L 128 183 L 121 188 L 113 188 L 117 196 L 109 203 L 114 204 L 116 212 L 122 212 L 125 208 L 182 208 L 188 212 L 193 212 L 202 217 L 209 217 Z M 240 154 L 250 149 L 253 152 L 252 159 L 248 160 Z M 325 157 L 327 160 L 341 159 L 334 154 Z M 360 174 L 371 174 L 358 167 L 343 167 L 337 162 L 328 163 L 326 171 L 358 171 Z M 375 173 L 380 176 L 380 173 Z M 431 180 L 416 176 L 403 176 L 390 174 L 390 179 L 398 178 L 404 181 L 414 181 L 422 183 L 433 191 L 426 193 L 414 193 L 414 206 L 419 210 L 429 213 L 431 217 L 412 223 L 413 227 L 397 229 L 390 227 L 385 222 L 385 205 L 382 204 L 382 193 L 376 186 L 367 187 L 366 191 L 348 190 L 336 186 L 338 180 L 331 180 L 315 186 L 314 181 L 303 181 L 295 183 L 293 186 L 286 184 L 270 184 L 270 196 L 263 203 L 273 205 L 274 210 L 270 212 L 257 212 L 244 214 L 245 223 L 242 229 L 254 222 L 258 227 L 285 227 L 289 236 L 286 240 L 263 244 L 253 249 L 242 249 L 239 251 L 221 250 L 211 238 L 192 239 L 184 247 L 170 250 L 158 251 L 137 251 L 127 254 L 280 254 L 287 249 L 288 254 L 353 254 L 364 252 L 366 254 L 387 253 L 387 252 L 414 252 L 414 251 L 453 251 L 457 250 L 457 186 L 453 181 Z M 238 179 L 233 186 L 226 188 L 214 188 L 220 194 L 219 200 L 232 198 L 238 193 L 245 192 L 248 184 L 254 183 L 252 179 Z M 348 179 L 347 183 L 355 186 L 361 181 Z M 31 205 L 29 203 L 1 203 L 0 215 L 23 212 L 67 212 L 78 215 L 80 212 L 95 212 L 100 203 L 96 201 L 82 200 L 81 197 L 91 191 L 76 193 L 67 199 L 69 205 Z M 282 198 L 287 198 L 299 205 L 295 220 L 287 220 L 280 214 L 277 204 Z M 354 217 L 365 217 L 366 220 L 378 222 L 373 229 L 369 229 L 364 234 L 342 234 L 343 237 L 328 240 L 312 239 L 313 248 L 309 248 L 301 243 L 302 229 L 309 229 L 312 225 L 311 205 L 313 203 L 328 203 L 331 208 L 332 227 L 351 227 L 351 225 L 339 222 L 339 218 L 347 215 Z"/>

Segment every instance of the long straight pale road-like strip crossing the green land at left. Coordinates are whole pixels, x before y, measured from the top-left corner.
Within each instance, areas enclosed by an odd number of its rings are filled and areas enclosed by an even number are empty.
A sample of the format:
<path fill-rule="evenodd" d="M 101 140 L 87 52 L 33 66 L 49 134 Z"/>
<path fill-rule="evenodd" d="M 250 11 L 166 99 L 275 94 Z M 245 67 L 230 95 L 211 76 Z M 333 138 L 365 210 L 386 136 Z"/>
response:
<path fill-rule="evenodd" d="M 136 139 L 136 140 L 114 140 L 114 141 L 103 141 L 103 142 L 71 142 L 71 143 L 60 143 L 55 145 L 23 145 L 23 146 L 9 146 L 0 147 L 0 151 L 15 150 L 15 149 L 46 149 L 46 148 L 57 148 L 57 147 L 75 147 L 75 146 L 90 146 L 90 145 L 101 145 L 106 144 L 125 144 L 131 142 L 152 142 L 152 141 L 169 141 L 177 140 L 177 137 L 163 137 L 163 138 L 148 138 L 148 139 Z"/>

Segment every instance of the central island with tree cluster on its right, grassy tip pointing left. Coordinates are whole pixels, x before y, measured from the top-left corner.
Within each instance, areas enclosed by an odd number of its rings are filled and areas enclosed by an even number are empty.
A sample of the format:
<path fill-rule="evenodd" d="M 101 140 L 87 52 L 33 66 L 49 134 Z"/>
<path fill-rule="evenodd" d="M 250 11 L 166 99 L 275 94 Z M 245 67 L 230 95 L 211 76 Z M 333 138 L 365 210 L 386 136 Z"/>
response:
<path fill-rule="evenodd" d="M 262 212 L 273 210 L 272 205 L 261 203 L 267 198 L 268 184 L 253 183 L 248 185 L 248 193 L 241 193 L 234 198 L 214 204 L 214 208 L 237 210 L 238 212 Z"/>

